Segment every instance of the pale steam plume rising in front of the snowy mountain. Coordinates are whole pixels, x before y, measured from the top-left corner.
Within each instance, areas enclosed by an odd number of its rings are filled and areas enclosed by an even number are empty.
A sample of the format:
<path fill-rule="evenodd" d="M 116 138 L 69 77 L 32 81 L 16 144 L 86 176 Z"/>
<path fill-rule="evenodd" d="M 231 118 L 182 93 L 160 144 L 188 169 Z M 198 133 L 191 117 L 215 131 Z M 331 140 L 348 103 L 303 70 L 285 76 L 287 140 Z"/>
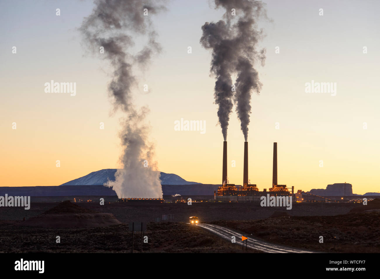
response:
<path fill-rule="evenodd" d="M 165 9 L 163 2 L 96 0 L 94 3 L 95 8 L 79 29 L 86 45 L 111 63 L 113 72 L 108 92 L 114 111 L 120 109 L 126 114 L 121 119 L 120 132 L 123 169 L 118 170 L 116 180 L 106 186 L 112 187 L 118 197 L 162 197 L 160 172 L 154 171 L 157 168 L 153 161 L 154 147 L 147 141 L 149 126 L 144 120 L 148 109 L 137 110 L 133 105 L 136 77 L 132 64 L 145 69 L 152 55 L 160 52 L 150 15 Z M 147 37 L 148 43 L 133 55 L 133 38 L 138 35 Z M 100 47 L 104 47 L 104 53 L 99 54 Z"/>

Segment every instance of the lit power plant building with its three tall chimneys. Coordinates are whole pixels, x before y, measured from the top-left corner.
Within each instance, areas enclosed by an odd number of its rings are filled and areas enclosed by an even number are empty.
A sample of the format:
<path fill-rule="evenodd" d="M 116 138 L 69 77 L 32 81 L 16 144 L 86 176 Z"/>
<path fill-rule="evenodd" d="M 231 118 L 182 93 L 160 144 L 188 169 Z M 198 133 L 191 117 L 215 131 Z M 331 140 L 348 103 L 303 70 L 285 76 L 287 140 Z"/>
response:
<path fill-rule="evenodd" d="M 248 179 L 248 142 L 244 142 L 244 161 L 243 161 L 243 183 L 242 185 L 230 184 L 227 175 L 227 142 L 223 142 L 223 171 L 222 171 L 222 186 L 218 187 L 216 200 L 233 200 L 233 201 L 255 201 L 261 196 L 290 196 L 294 193 L 294 187 L 291 188 L 291 193 L 286 185 L 277 184 L 277 143 L 273 143 L 273 174 L 272 187 L 269 191 L 264 189 L 259 191 L 256 184 L 250 184 Z M 244 198 L 239 198 L 240 196 Z"/>

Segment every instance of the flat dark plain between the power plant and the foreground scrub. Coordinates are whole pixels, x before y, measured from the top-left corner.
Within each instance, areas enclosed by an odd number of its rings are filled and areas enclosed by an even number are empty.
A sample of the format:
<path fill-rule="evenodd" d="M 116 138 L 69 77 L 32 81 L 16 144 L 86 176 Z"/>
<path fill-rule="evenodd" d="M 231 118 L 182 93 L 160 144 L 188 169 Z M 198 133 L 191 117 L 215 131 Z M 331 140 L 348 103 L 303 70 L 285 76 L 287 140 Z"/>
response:
<path fill-rule="evenodd" d="M 59 203 L 32 202 L 29 210 L 23 207 L 0 207 L 0 220 L 22 220 L 36 216 L 55 207 Z M 176 222 L 188 222 L 190 216 L 197 216 L 202 222 L 217 220 L 252 220 L 264 219 L 274 212 L 287 212 L 291 216 L 331 216 L 346 214 L 357 204 L 351 203 L 321 203 L 321 204 L 293 204 L 291 210 L 279 207 L 261 207 L 258 203 L 213 203 L 193 202 L 192 205 L 162 203 L 119 203 L 111 202 L 100 205 L 98 202 L 76 203 L 83 208 L 97 212 L 112 213 L 122 223 L 131 221 L 154 222 L 162 215 L 174 215 Z"/>

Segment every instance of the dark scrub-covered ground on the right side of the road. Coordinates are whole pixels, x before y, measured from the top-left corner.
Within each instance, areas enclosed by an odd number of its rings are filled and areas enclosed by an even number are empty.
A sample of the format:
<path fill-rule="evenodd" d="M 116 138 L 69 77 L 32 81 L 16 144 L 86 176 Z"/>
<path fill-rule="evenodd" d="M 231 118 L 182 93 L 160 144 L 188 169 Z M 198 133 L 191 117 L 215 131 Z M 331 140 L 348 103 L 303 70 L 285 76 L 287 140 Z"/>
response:
<path fill-rule="evenodd" d="M 284 215 L 261 220 L 211 223 L 296 248 L 323 252 L 380 252 L 380 199 L 370 201 L 368 205 L 356 204 L 348 214 L 334 216 Z M 321 236 L 323 243 L 320 243 Z"/>

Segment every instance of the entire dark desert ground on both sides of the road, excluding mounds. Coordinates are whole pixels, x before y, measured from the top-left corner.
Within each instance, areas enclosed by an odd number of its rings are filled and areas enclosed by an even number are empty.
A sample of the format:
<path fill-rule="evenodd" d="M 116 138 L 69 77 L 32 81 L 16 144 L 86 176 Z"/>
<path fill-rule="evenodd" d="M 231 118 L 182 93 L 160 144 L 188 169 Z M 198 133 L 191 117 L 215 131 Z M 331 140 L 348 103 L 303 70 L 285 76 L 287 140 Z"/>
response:
<path fill-rule="evenodd" d="M 58 204 L 32 202 L 30 210 L 0 207 L 0 252 L 131 252 L 131 221 L 147 223 L 144 252 L 241 252 L 241 246 L 185 224 L 189 216 L 197 216 L 201 223 L 233 227 L 262 240 L 296 248 L 337 252 L 334 235 L 339 234 L 340 252 L 380 252 L 380 213 L 347 214 L 359 206 L 350 203 L 293 204 L 291 210 L 286 210 L 253 203 L 84 202 L 76 204 L 84 210 L 112 213 L 123 224 L 66 229 L 13 226 L 24 217 L 37 216 Z M 169 214 L 174 216 L 173 221 L 155 222 L 155 218 Z M 269 218 L 272 215 L 285 217 Z M 57 235 L 60 243 L 56 243 Z M 318 242 L 320 235 L 324 236 L 323 244 Z M 140 249 L 140 238 L 136 233 L 136 251 Z"/>

